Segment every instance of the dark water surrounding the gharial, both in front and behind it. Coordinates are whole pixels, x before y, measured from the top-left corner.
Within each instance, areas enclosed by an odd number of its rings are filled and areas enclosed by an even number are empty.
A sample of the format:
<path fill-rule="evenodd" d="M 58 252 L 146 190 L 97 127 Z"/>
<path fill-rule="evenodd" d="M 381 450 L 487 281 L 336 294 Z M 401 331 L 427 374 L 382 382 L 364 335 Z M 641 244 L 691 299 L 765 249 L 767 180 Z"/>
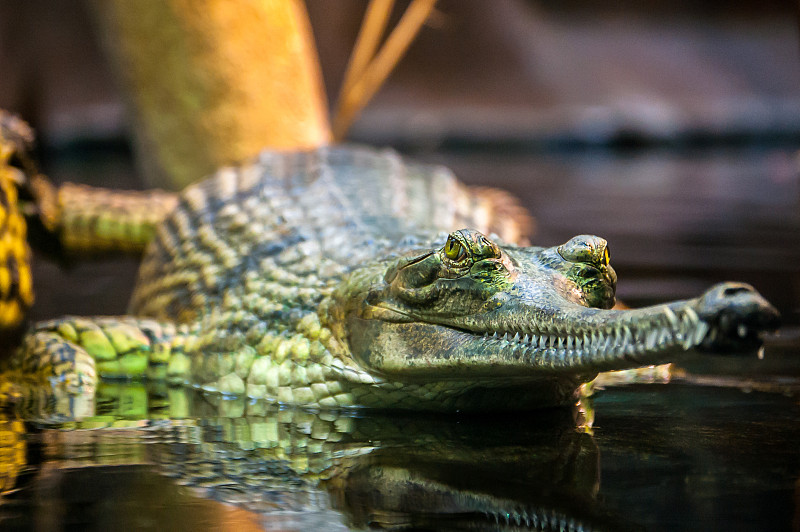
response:
<path fill-rule="evenodd" d="M 763 360 L 698 355 L 668 384 L 488 418 L 279 410 L 137 386 L 30 400 L 0 423 L 0 529 L 800 530 L 795 154 L 416 154 L 512 190 L 537 216 L 537 243 L 606 237 L 629 304 L 754 284 L 786 322 Z M 117 155 L 56 162 L 57 179 L 133 182 Z M 42 260 L 35 317 L 124 312 L 134 272 L 125 258 Z"/>

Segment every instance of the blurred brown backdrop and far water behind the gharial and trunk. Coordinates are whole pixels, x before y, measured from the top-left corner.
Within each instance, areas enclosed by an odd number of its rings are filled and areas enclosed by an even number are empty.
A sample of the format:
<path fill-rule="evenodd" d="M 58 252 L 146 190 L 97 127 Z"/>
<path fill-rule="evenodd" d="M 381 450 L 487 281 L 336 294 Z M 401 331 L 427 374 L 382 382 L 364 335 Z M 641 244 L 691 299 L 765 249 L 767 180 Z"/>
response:
<path fill-rule="evenodd" d="M 306 4 L 335 103 L 366 2 Z M 742 280 L 796 324 L 797 28 L 774 0 L 440 0 L 348 140 L 510 190 L 537 244 L 607 238 L 629 304 Z M 0 0 L 0 107 L 54 180 L 141 188 L 96 34 L 81 1 Z M 34 318 L 114 314 L 136 259 L 36 268 Z"/>

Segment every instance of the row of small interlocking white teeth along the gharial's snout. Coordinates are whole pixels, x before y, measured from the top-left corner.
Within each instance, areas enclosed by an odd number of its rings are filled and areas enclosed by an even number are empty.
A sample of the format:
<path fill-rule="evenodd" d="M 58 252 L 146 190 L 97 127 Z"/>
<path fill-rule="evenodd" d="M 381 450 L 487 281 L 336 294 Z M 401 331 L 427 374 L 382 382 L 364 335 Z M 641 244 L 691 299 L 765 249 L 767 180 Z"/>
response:
<path fill-rule="evenodd" d="M 554 350 L 559 354 L 595 354 L 606 356 L 638 355 L 680 346 L 691 349 L 700 344 L 709 326 L 689 307 L 678 311 L 666 307 L 663 312 L 637 324 L 620 323 L 607 328 L 585 331 L 495 331 L 487 340 L 524 349 L 526 352 Z"/>

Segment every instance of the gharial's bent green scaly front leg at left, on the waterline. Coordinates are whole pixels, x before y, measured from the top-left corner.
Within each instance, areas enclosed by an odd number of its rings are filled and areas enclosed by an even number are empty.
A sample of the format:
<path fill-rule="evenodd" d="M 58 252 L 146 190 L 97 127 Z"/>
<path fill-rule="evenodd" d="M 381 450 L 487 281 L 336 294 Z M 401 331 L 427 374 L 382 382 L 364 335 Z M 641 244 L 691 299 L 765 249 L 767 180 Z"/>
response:
<path fill-rule="evenodd" d="M 92 393 L 98 378 L 184 380 L 185 326 L 130 317 L 64 317 L 37 324 L 12 358 L 26 379 L 69 393 Z"/>

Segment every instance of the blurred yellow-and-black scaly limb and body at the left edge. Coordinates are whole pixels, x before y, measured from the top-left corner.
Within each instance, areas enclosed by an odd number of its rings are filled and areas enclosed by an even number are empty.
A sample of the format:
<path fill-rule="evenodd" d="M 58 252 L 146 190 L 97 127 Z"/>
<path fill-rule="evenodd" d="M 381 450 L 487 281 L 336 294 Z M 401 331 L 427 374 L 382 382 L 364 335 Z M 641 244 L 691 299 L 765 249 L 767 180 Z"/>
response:
<path fill-rule="evenodd" d="M 67 252 L 141 252 L 177 196 L 160 190 L 111 192 L 67 183 L 56 187 L 30 158 L 34 135 L 0 109 L 0 338 L 13 335 L 33 303 L 31 253 L 18 189 L 32 198 L 26 216 L 58 236 Z M 13 164 L 13 165 L 12 165 Z M 3 343 L 6 343 L 5 341 Z M 0 349 L 2 351 L 2 349 Z"/>

